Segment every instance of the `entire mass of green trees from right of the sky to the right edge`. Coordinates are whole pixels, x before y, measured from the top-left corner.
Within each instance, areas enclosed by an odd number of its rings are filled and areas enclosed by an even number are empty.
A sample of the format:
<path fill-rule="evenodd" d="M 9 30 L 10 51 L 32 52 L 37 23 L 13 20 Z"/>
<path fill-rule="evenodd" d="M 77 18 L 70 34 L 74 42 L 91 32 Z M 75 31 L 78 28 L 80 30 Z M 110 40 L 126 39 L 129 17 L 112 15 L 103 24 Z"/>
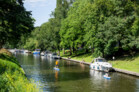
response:
<path fill-rule="evenodd" d="M 36 48 L 84 48 L 103 57 L 139 50 L 138 0 L 57 0 L 52 15 L 32 33 Z"/>

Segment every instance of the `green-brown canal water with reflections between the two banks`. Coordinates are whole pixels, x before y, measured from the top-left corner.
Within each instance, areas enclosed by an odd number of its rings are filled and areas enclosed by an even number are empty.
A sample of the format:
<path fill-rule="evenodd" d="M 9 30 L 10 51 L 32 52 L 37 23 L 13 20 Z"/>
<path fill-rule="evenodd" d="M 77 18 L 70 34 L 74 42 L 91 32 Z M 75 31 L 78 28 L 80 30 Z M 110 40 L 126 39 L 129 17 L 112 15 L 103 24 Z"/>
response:
<path fill-rule="evenodd" d="M 139 92 L 139 78 L 90 70 L 88 65 L 59 60 L 60 71 L 53 70 L 54 59 L 16 54 L 27 77 L 34 80 L 44 92 Z"/>

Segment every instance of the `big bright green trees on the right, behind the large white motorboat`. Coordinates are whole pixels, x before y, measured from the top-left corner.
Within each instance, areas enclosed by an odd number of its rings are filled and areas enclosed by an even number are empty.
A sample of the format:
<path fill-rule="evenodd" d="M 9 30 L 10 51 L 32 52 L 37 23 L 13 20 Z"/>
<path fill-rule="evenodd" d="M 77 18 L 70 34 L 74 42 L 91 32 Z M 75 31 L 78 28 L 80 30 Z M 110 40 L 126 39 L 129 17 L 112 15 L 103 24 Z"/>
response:
<path fill-rule="evenodd" d="M 91 47 L 103 57 L 137 50 L 138 6 L 131 0 L 77 0 L 62 22 L 61 46 Z"/>

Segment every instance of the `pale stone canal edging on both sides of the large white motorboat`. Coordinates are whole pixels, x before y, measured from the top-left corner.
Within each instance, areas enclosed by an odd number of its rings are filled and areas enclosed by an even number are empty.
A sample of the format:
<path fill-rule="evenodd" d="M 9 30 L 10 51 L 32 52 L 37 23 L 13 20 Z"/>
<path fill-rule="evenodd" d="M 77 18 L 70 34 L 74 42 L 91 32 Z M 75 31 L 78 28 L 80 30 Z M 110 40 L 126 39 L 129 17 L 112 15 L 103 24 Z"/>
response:
<path fill-rule="evenodd" d="M 84 61 L 79 61 L 79 60 L 74 60 L 74 59 L 68 59 L 68 58 L 63 58 L 63 57 L 62 57 L 62 59 L 73 61 L 73 62 L 78 62 L 78 63 L 82 63 L 82 64 L 86 64 L 86 65 L 90 65 L 91 64 L 89 62 L 84 62 Z M 115 72 L 119 72 L 119 73 L 123 73 L 123 74 L 128 74 L 128 75 L 139 77 L 139 73 L 136 73 L 136 72 L 127 71 L 127 70 L 118 69 L 118 68 L 113 68 L 113 69 L 114 69 Z"/>

